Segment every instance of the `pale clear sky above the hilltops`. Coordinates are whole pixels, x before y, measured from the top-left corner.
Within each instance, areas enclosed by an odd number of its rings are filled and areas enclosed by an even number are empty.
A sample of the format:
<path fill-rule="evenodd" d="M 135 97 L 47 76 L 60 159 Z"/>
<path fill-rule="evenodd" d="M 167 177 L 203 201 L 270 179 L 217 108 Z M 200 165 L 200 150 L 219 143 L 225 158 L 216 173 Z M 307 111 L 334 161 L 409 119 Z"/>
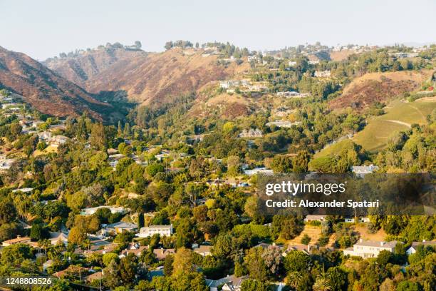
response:
<path fill-rule="evenodd" d="M 230 41 L 264 50 L 314 43 L 436 41 L 435 0 L 0 0 L 0 46 L 43 60 L 119 41 Z"/>

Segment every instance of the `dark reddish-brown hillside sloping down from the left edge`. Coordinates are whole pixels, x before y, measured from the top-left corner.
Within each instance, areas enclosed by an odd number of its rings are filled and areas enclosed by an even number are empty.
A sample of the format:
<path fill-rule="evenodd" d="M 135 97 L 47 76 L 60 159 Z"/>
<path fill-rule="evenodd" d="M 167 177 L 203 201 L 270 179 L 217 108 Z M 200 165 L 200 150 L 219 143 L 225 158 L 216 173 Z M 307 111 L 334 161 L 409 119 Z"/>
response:
<path fill-rule="evenodd" d="M 24 101 L 52 116 L 80 116 L 86 111 L 101 120 L 98 111 L 110 111 L 110 106 L 33 58 L 1 46 L 0 86 L 24 96 Z"/>

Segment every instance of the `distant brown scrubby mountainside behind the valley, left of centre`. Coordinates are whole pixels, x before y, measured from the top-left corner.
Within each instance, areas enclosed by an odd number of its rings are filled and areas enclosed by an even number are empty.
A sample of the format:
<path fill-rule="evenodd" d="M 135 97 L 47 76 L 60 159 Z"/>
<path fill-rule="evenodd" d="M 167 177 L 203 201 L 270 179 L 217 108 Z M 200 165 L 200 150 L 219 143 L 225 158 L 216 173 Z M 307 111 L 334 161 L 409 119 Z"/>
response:
<path fill-rule="evenodd" d="M 202 55 L 202 50 L 194 49 L 119 53 L 116 59 L 105 54 L 108 51 L 93 50 L 69 61 L 46 62 L 46 65 L 68 80 L 83 84 L 89 92 L 125 91 L 130 101 L 144 105 L 170 102 L 174 96 L 197 91 L 210 81 L 222 80 L 249 68 L 248 63 L 219 66 L 217 56 Z M 93 71 L 94 55 L 108 61 Z"/>

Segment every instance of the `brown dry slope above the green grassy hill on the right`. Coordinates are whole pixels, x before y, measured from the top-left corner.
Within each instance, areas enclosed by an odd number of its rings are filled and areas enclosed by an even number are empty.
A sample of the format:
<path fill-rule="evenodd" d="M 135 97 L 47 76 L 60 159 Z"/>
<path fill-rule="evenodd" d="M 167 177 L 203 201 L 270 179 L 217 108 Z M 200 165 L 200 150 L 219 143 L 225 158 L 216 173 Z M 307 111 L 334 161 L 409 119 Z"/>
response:
<path fill-rule="evenodd" d="M 377 101 L 389 101 L 416 90 L 430 75 L 430 70 L 367 73 L 346 86 L 343 94 L 330 102 L 330 107 L 363 109 Z"/>

